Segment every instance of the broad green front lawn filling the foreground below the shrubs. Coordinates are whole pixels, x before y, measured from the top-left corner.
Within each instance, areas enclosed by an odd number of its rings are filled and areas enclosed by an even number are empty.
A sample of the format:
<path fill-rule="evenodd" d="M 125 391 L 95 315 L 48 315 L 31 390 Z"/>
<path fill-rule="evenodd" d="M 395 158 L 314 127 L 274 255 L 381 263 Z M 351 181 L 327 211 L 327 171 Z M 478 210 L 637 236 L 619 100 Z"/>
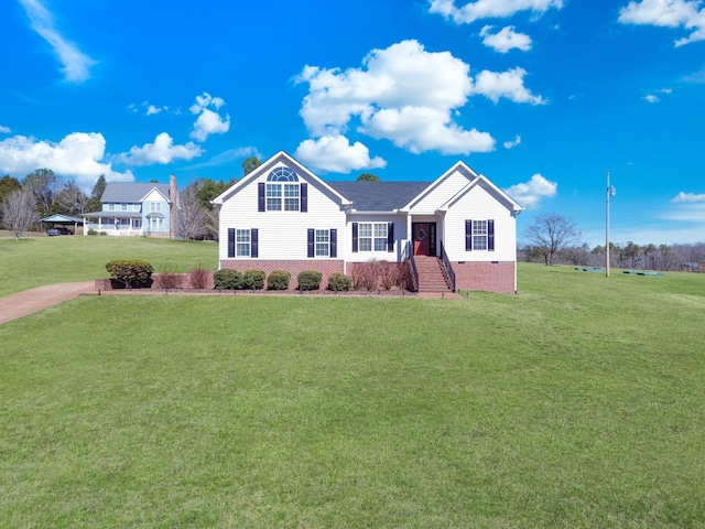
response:
<path fill-rule="evenodd" d="M 2 527 L 705 527 L 705 276 L 0 326 Z"/>

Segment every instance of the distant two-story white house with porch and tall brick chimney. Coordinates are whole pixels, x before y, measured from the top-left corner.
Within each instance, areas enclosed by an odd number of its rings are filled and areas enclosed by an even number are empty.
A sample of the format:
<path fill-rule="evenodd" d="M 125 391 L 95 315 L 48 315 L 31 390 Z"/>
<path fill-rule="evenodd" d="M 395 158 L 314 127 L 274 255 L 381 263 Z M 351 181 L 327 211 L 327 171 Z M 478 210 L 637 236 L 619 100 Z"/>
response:
<path fill-rule="evenodd" d="M 100 212 L 84 213 L 84 234 L 89 230 L 116 236 L 173 237 L 176 180 L 169 184 L 108 182 Z"/>

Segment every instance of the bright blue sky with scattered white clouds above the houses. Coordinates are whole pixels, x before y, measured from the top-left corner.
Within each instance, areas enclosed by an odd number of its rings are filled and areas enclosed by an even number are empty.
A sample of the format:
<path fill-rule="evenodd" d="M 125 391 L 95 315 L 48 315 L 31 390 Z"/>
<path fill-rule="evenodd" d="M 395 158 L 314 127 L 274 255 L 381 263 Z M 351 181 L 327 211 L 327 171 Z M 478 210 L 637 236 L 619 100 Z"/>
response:
<path fill-rule="evenodd" d="M 693 0 L 6 0 L 0 174 L 324 180 L 463 160 L 590 247 L 705 240 L 705 6 Z"/>

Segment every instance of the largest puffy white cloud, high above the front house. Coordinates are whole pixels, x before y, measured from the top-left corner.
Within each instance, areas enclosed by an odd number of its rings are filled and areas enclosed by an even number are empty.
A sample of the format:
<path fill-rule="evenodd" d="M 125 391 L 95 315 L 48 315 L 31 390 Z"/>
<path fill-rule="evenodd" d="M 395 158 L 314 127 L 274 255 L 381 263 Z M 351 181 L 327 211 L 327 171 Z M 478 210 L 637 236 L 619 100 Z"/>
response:
<path fill-rule="evenodd" d="M 484 79 L 491 73 L 480 74 L 479 86 L 474 86 L 468 64 L 449 52 L 426 52 L 414 40 L 372 50 L 362 64 L 346 71 L 306 66 L 296 77 L 297 83 L 308 84 L 300 115 L 312 137 L 344 134 L 357 118 L 358 132 L 412 152 L 467 155 L 495 145 L 489 133 L 466 130 L 454 121 L 469 96 L 543 102 L 523 87 L 524 71 L 496 74 L 496 86 L 489 90 Z"/>

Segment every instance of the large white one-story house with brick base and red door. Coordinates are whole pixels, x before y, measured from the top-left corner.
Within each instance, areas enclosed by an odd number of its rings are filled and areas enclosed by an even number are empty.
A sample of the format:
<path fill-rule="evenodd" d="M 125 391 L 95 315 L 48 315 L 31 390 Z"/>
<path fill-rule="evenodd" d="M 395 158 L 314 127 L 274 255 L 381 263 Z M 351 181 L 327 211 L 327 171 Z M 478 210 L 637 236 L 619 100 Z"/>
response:
<path fill-rule="evenodd" d="M 325 182 L 279 152 L 213 202 L 221 269 L 318 270 L 325 285 L 356 262 L 432 257 L 452 290 L 517 291 L 522 207 L 463 162 L 434 181 Z"/>

